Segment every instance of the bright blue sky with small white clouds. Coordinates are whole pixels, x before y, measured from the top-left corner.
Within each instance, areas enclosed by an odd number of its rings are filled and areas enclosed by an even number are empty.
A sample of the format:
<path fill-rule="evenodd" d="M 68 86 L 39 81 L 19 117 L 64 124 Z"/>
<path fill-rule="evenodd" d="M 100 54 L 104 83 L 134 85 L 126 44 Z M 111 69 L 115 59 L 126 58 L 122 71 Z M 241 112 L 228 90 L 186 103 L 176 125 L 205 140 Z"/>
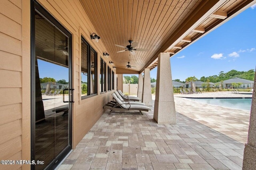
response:
<path fill-rule="evenodd" d="M 170 58 L 172 80 L 218 75 L 256 67 L 256 6 L 208 33 Z M 156 78 L 157 68 L 150 71 Z"/>

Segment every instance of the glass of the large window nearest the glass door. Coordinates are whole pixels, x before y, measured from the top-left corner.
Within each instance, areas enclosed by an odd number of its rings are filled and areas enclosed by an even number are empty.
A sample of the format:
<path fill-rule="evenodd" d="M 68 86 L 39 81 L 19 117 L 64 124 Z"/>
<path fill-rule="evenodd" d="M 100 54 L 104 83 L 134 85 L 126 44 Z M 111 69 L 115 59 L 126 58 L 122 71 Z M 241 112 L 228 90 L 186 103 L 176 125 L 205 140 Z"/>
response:
<path fill-rule="evenodd" d="M 97 53 L 84 37 L 81 42 L 81 97 L 84 99 L 97 93 Z"/>

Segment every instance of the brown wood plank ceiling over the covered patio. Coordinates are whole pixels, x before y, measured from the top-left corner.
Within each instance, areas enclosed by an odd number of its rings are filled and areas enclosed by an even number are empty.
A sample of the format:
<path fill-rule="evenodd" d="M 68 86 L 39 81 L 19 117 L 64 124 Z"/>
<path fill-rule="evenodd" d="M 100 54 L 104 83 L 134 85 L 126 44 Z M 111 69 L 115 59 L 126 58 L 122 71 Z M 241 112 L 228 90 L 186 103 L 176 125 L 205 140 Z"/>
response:
<path fill-rule="evenodd" d="M 228 21 L 256 0 L 80 0 L 94 24 L 92 30 L 110 54 L 117 73 L 143 72 L 157 66 L 161 52 L 175 55 L 196 39 Z M 129 40 L 138 42 L 129 51 Z M 102 51 L 103 53 L 104 51 Z M 101 55 L 102 56 L 102 55 Z M 123 69 L 130 62 L 135 68 Z"/>

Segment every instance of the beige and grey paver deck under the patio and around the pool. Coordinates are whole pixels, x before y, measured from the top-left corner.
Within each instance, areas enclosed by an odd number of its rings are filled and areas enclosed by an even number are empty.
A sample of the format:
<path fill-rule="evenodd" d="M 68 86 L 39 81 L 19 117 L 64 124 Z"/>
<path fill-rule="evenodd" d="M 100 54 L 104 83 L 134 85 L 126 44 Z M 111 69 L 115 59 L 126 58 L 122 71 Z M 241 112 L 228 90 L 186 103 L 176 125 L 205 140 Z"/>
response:
<path fill-rule="evenodd" d="M 149 112 L 143 111 L 144 115 L 135 111 L 108 115 L 106 110 L 58 169 L 242 170 L 250 111 L 178 97 L 185 97 L 184 94 L 174 96 L 177 124 L 157 124 L 154 106 Z"/>

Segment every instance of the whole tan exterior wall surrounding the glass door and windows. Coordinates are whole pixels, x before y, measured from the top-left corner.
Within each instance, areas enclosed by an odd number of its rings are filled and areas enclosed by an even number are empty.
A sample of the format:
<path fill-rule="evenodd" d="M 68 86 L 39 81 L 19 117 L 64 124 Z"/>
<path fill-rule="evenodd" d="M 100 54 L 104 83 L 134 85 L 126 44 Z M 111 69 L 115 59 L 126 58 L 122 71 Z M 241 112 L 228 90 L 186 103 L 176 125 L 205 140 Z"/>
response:
<path fill-rule="evenodd" d="M 78 0 L 65 3 L 46 0 L 38 2 L 72 33 L 72 74 L 75 89 L 72 147 L 75 148 L 104 113 L 103 106 L 111 100 L 110 94 L 113 92 L 100 94 L 98 79 L 98 95 L 81 100 L 81 34 L 98 53 L 98 63 L 106 49 L 101 40 L 95 43 L 90 39 L 90 34 L 96 32 L 96 29 Z M 30 0 L 1 0 L 0 20 L 0 79 L 5 80 L 0 82 L 0 159 L 30 160 Z M 107 64 L 111 60 L 111 57 L 102 58 Z M 98 66 L 98 75 L 99 68 Z M 115 81 L 114 90 L 116 86 Z M 0 165 L 0 169 L 30 169 L 30 165 Z"/>

